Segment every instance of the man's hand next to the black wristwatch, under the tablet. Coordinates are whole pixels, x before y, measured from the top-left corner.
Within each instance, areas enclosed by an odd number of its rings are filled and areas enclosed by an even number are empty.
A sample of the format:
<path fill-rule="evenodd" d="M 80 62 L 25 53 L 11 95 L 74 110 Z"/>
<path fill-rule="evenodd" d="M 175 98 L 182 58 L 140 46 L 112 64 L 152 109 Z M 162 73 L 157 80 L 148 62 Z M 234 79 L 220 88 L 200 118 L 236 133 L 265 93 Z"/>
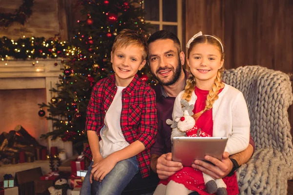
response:
<path fill-rule="evenodd" d="M 198 169 L 205 174 L 213 177 L 214 179 L 219 179 L 227 176 L 233 168 L 233 163 L 229 159 L 229 153 L 224 152 L 222 160 L 218 160 L 212 156 L 205 156 L 205 159 L 214 165 L 202 161 L 202 160 L 194 160 L 194 164 L 191 166 L 195 169 Z"/>

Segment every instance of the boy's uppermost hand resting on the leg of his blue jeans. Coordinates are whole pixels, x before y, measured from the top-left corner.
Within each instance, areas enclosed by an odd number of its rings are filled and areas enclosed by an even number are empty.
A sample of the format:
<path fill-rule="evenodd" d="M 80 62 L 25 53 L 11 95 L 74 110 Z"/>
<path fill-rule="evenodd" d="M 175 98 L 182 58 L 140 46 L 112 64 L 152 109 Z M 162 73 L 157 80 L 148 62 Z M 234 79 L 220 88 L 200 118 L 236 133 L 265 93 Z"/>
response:
<path fill-rule="evenodd" d="M 93 178 L 96 181 L 101 182 L 104 179 L 104 177 L 114 168 L 116 164 L 117 161 L 112 155 L 103 158 L 97 164 L 94 164 L 92 166 L 93 169 L 91 173 L 93 174 Z"/>

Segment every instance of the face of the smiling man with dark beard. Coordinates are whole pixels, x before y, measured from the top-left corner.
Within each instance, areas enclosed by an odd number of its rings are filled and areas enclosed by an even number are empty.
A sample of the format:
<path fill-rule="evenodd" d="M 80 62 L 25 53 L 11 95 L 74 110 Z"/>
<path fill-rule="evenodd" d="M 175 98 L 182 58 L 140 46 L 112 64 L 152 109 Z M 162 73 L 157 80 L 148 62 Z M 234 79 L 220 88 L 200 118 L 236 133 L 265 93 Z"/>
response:
<path fill-rule="evenodd" d="M 183 53 L 183 52 L 182 52 Z M 171 39 L 159 39 L 148 45 L 148 61 L 151 73 L 162 85 L 172 85 L 182 71 L 181 54 Z"/>

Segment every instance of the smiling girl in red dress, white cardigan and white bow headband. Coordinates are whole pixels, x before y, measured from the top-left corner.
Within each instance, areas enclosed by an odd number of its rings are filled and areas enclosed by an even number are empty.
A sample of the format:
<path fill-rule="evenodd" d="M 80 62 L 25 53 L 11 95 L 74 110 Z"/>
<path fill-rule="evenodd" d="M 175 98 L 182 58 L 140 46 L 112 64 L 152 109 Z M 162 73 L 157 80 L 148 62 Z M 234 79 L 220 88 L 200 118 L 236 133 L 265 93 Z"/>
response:
<path fill-rule="evenodd" d="M 194 104 L 195 114 L 192 117 L 198 128 L 212 137 L 229 137 L 225 152 L 232 155 L 245 150 L 249 144 L 250 132 L 248 109 L 242 93 L 222 82 L 222 42 L 214 36 L 199 32 L 188 41 L 187 48 L 190 73 L 185 90 L 175 99 L 173 120 L 183 116 L 180 101 L 186 99 L 189 105 Z M 186 133 L 180 132 L 177 127 L 173 128 L 171 137 L 184 136 Z M 235 174 L 226 176 L 223 180 L 229 195 L 239 194 Z M 188 195 L 194 191 L 200 195 L 211 193 L 207 191 L 202 172 L 192 167 L 184 167 L 161 181 L 157 189 L 161 191 L 162 185 L 166 187 L 166 195 Z M 155 194 L 156 192 L 158 191 Z"/>

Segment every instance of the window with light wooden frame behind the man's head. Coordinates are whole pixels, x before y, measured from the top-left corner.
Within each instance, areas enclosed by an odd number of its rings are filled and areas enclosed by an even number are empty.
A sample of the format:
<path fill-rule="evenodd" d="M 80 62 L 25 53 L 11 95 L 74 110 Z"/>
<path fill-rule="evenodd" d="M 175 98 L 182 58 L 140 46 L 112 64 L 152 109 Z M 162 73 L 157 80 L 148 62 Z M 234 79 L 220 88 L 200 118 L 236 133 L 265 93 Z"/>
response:
<path fill-rule="evenodd" d="M 182 0 L 144 0 L 145 20 L 158 30 L 168 30 L 182 43 Z"/>

